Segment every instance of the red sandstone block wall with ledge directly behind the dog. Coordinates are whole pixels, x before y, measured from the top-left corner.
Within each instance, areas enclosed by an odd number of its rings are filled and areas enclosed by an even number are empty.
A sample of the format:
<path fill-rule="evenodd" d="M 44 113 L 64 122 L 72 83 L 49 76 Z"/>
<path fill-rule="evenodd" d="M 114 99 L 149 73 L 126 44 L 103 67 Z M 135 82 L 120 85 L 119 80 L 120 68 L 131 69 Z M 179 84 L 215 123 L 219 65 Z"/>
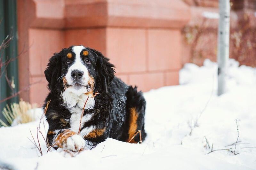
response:
<path fill-rule="evenodd" d="M 181 30 L 190 10 L 181 0 L 18 0 L 20 97 L 41 104 L 52 53 L 83 44 L 116 65 L 116 76 L 148 91 L 179 83 Z"/>

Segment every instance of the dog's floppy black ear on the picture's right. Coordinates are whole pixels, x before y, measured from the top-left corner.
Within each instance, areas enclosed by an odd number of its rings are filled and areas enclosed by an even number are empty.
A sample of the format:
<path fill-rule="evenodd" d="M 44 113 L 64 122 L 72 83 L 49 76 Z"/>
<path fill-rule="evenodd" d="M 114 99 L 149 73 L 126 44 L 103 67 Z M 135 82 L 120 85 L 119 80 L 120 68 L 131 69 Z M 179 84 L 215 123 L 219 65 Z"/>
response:
<path fill-rule="evenodd" d="M 96 80 L 97 84 L 100 85 L 104 92 L 107 92 L 108 86 L 112 83 L 115 77 L 115 66 L 109 63 L 109 58 L 103 56 L 100 51 L 90 49 L 92 53 L 96 55 L 96 72 L 98 73 L 98 78 Z"/>

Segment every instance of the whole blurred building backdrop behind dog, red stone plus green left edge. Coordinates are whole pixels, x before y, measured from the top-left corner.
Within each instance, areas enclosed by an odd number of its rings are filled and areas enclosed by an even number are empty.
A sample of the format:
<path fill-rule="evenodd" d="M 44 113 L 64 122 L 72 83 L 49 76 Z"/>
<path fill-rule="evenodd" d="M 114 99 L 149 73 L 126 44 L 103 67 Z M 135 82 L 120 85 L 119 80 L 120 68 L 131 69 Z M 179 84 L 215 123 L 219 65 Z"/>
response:
<path fill-rule="evenodd" d="M 185 63 L 216 61 L 218 12 L 218 0 L 0 0 L 0 40 L 13 36 L 2 58 L 18 56 L 7 67 L 15 87 L 2 76 L 1 99 L 21 90 L 20 98 L 41 105 L 48 59 L 79 44 L 101 51 L 117 77 L 143 91 L 178 85 Z M 256 0 L 231 0 L 230 58 L 249 66 L 256 66 L 255 17 Z"/>

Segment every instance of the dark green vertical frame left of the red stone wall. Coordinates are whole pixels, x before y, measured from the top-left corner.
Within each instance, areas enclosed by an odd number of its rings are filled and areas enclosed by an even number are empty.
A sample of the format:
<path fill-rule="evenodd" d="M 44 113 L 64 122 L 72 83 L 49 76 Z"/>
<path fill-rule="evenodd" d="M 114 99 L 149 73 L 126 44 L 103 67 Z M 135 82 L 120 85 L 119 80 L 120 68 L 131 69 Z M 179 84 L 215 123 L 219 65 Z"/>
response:
<path fill-rule="evenodd" d="M 0 43 L 6 38 L 7 35 L 12 37 L 12 40 L 9 43 L 9 46 L 1 50 L 1 58 L 3 61 L 6 61 L 10 58 L 16 58 L 18 53 L 17 49 L 17 9 L 16 9 L 16 0 L 0 0 Z M 6 68 L 7 77 L 9 80 L 13 80 L 15 84 L 15 88 L 12 89 L 9 87 L 4 72 L 4 67 L 1 68 L 0 77 L 0 100 L 11 96 L 13 93 L 18 92 L 18 59 L 14 59 L 10 62 Z M 6 106 L 6 104 L 17 103 L 19 101 L 18 96 L 13 97 L 3 103 L 0 103 L 0 119 L 5 120 L 2 115 L 2 110 Z"/>

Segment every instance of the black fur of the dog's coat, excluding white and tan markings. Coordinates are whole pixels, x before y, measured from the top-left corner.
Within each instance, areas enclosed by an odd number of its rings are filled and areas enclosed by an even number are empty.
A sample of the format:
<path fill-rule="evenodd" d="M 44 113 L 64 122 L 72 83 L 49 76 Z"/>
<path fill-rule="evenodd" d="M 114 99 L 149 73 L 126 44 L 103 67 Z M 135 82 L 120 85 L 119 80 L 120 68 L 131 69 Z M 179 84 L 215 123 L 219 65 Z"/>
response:
<path fill-rule="evenodd" d="M 85 110 L 84 115 L 93 113 L 92 119 L 85 122 L 82 128 L 94 125 L 97 129 L 105 128 L 103 135 L 97 138 L 85 138 L 95 147 L 98 143 L 111 137 L 120 141 L 129 140 L 130 127 L 130 110 L 135 108 L 138 113 L 137 130 L 141 130 L 142 140 L 145 139 L 146 133 L 144 130 L 144 115 L 146 102 L 142 92 L 137 92 L 137 87 L 126 85 L 120 79 L 114 77 L 114 65 L 109 63 L 109 59 L 104 57 L 99 51 L 86 48 L 89 55 L 91 65 L 87 66 L 90 70 L 90 75 L 95 80 L 94 92 L 98 91 L 95 97 L 95 106 L 93 109 Z M 65 66 L 67 53 L 72 53 L 72 46 L 68 49 L 62 49 L 59 53 L 55 53 L 50 58 L 46 70 L 44 71 L 50 93 L 45 99 L 44 107 L 47 101 L 50 101 L 46 112 L 46 119 L 49 123 L 49 130 L 70 128 L 69 119 L 71 113 L 65 107 L 61 93 L 64 91 L 63 81 L 61 76 L 67 73 L 68 67 Z M 58 134 L 57 134 L 58 135 Z M 56 134 L 48 134 L 48 139 L 51 145 L 54 144 Z M 135 138 L 139 142 L 139 135 Z"/>

